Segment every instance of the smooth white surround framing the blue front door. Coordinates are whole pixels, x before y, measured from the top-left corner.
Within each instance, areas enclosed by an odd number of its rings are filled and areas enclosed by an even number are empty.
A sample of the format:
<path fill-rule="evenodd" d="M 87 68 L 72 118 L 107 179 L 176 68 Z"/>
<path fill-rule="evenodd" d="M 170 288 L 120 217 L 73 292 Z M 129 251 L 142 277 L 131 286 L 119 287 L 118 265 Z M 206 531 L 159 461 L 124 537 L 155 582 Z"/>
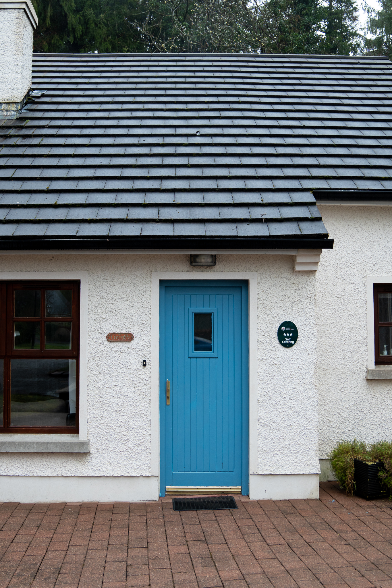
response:
<path fill-rule="evenodd" d="M 159 476 L 159 282 L 247 280 L 249 305 L 249 473 L 257 473 L 257 273 L 152 272 L 151 276 L 151 475 Z M 252 476 L 250 484 L 252 483 Z"/>

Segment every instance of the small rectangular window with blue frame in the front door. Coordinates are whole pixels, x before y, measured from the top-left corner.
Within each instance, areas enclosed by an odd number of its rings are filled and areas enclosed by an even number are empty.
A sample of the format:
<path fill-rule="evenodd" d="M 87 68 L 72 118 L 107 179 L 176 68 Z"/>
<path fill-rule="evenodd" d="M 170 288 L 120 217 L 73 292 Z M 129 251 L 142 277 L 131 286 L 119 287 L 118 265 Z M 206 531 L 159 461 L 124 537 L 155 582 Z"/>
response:
<path fill-rule="evenodd" d="M 189 357 L 217 358 L 217 309 L 189 309 Z"/>

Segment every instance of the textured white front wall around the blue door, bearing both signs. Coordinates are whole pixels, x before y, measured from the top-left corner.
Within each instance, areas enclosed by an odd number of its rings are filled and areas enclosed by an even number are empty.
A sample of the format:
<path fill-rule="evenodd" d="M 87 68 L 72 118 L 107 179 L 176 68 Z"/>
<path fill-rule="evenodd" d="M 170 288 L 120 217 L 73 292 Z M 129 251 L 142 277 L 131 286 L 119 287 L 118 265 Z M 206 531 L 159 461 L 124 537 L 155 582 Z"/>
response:
<path fill-rule="evenodd" d="M 258 470 L 317 474 L 315 385 L 316 276 L 294 273 L 293 255 L 217 255 L 214 268 L 192 268 L 189 255 L 3 255 L 2 272 L 88 272 L 88 454 L 1 453 L 3 476 L 150 476 L 152 272 L 257 272 Z M 322 259 L 322 258 L 321 258 Z M 283 320 L 299 339 L 277 340 Z M 109 332 L 132 332 L 109 343 Z M 143 368 L 143 359 L 147 367 Z M 153 437 L 155 438 L 155 437 Z M 158 496 L 157 496 L 158 498 Z"/>

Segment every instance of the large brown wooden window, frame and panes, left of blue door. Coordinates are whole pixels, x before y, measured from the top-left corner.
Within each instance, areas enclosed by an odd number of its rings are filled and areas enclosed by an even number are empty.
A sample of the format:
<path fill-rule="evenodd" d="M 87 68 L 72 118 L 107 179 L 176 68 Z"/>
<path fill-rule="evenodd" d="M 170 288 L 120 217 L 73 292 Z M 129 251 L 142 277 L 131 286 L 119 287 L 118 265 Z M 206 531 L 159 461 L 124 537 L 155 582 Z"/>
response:
<path fill-rule="evenodd" d="M 79 282 L 0 282 L 0 433 L 79 432 Z"/>

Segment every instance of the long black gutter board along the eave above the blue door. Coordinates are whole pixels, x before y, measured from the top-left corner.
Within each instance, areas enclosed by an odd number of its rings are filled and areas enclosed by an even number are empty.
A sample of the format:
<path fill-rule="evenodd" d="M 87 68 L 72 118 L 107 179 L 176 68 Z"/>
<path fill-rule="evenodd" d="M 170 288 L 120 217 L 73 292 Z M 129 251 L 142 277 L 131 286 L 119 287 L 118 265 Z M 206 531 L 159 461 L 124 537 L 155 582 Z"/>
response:
<path fill-rule="evenodd" d="M 0 250 L 48 249 L 333 249 L 333 239 L 252 238 L 8 238 Z"/>

